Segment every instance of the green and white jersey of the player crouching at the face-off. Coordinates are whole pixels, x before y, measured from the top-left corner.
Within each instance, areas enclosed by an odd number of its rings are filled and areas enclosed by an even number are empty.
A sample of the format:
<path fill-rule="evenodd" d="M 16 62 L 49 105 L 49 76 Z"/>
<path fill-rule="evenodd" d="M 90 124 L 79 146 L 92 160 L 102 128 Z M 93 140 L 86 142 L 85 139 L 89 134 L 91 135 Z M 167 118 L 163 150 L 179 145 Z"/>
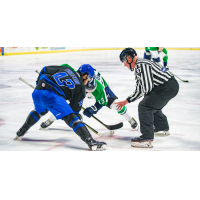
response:
<path fill-rule="evenodd" d="M 95 81 L 97 87 L 92 93 L 87 93 L 86 97 L 89 99 L 95 99 L 102 106 L 106 106 L 108 103 L 108 98 L 106 95 L 105 88 L 108 86 L 107 82 L 101 76 L 99 72 L 95 70 Z"/>

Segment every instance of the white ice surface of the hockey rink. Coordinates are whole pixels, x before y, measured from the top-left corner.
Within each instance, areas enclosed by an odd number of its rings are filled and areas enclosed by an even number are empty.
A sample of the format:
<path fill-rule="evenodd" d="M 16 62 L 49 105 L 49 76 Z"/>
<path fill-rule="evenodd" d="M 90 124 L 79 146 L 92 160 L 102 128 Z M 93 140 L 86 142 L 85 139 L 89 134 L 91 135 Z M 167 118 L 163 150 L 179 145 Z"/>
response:
<path fill-rule="evenodd" d="M 91 64 L 108 82 L 119 100 L 126 99 L 135 89 L 134 73 L 119 61 L 120 50 L 82 51 L 69 53 L 13 55 L 0 57 L 0 151 L 88 151 L 88 146 L 63 121 L 54 122 L 47 130 L 39 130 L 48 119 L 48 113 L 24 136 L 23 141 L 14 141 L 16 132 L 34 109 L 32 91 L 20 77 L 35 86 L 36 70 L 47 65 L 68 63 L 78 69 L 82 64 Z M 137 50 L 143 57 L 143 50 Z M 131 138 L 139 136 L 127 121 L 116 111 L 103 108 L 96 115 L 107 125 L 123 122 L 123 128 L 115 130 L 111 137 L 94 139 L 105 141 L 107 151 L 199 151 L 200 150 L 200 51 L 168 50 L 170 71 L 189 83 L 177 79 L 180 85 L 178 96 L 163 109 L 168 117 L 170 136 L 155 136 L 152 149 L 131 147 Z M 138 103 L 128 104 L 128 111 L 138 120 Z M 83 107 L 94 104 L 85 99 Z M 106 132 L 99 122 L 84 117 L 84 122 L 98 132 Z"/>

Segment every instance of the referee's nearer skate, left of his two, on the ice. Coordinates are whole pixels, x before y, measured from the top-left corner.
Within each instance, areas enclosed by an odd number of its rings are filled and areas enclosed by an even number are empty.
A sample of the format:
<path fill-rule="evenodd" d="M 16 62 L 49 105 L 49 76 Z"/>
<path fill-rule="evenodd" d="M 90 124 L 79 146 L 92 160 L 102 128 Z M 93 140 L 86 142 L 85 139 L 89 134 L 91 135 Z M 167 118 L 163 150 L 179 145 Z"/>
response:
<path fill-rule="evenodd" d="M 135 137 L 131 140 L 131 146 L 137 148 L 153 148 L 151 144 L 153 139 L 143 139 L 141 137 Z"/>

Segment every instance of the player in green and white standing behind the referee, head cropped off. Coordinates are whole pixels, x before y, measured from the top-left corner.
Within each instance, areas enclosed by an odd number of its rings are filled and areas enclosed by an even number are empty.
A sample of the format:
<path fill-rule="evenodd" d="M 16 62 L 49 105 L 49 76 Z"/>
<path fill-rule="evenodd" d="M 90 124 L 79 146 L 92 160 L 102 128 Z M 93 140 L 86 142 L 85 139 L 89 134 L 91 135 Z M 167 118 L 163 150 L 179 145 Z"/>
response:
<path fill-rule="evenodd" d="M 144 59 L 153 60 L 153 62 L 157 62 L 161 64 L 163 67 L 161 68 L 162 72 L 166 72 L 169 70 L 168 64 L 168 55 L 167 50 L 164 47 L 145 47 Z"/>

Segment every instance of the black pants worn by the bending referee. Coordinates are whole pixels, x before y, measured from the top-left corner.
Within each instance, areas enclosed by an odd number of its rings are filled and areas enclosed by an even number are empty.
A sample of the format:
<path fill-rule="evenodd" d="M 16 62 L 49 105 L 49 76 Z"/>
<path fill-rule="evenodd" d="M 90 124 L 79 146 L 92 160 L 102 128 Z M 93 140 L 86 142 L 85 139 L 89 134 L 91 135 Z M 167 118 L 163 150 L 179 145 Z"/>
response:
<path fill-rule="evenodd" d="M 171 78 L 163 85 L 154 87 L 139 103 L 138 112 L 142 138 L 154 139 L 154 127 L 157 131 L 169 130 L 167 117 L 162 109 L 179 91 L 179 84 Z"/>

